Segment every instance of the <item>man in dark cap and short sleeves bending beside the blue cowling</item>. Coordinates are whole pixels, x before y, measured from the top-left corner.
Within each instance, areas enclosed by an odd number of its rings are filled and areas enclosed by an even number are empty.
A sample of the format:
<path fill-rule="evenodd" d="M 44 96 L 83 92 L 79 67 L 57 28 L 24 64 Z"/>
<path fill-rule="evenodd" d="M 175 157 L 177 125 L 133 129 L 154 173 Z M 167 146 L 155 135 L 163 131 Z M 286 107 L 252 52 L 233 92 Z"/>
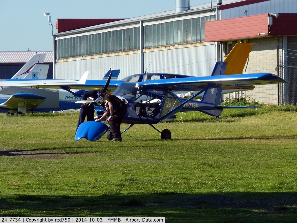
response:
<path fill-rule="evenodd" d="M 110 113 L 110 116 L 107 119 L 110 125 L 110 130 L 113 134 L 113 139 L 110 141 L 122 141 L 120 126 L 125 114 L 127 113 L 126 104 L 115 95 L 107 94 L 107 91 L 104 92 L 103 90 L 100 90 L 99 96 L 105 101 L 106 112 L 96 121 L 101 122 Z"/>

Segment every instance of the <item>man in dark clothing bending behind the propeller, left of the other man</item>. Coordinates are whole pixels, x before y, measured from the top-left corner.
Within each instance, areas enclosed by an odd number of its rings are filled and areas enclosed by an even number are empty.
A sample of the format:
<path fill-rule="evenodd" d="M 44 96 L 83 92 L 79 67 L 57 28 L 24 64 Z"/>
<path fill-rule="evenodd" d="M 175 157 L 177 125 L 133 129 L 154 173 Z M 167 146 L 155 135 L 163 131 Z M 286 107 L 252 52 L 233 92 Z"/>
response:
<path fill-rule="evenodd" d="M 82 95 L 82 100 L 87 100 L 90 98 L 91 100 L 96 100 L 98 98 L 97 95 L 98 91 L 87 91 Z M 85 118 L 87 117 L 87 121 L 94 121 L 94 102 L 93 103 L 82 103 L 80 107 L 80 114 L 78 118 L 78 123 L 76 130 L 78 129 L 78 126 L 85 121 Z"/>

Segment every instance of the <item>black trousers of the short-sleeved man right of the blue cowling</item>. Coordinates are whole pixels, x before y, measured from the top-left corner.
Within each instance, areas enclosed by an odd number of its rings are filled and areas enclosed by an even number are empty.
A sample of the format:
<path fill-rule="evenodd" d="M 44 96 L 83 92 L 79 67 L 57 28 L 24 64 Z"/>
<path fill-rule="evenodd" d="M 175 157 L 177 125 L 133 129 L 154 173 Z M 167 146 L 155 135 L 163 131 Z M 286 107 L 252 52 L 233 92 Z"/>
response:
<path fill-rule="evenodd" d="M 127 106 L 118 106 L 117 110 L 114 112 L 113 116 L 109 120 L 110 130 L 112 132 L 113 138 L 121 138 L 121 122 L 127 113 Z"/>

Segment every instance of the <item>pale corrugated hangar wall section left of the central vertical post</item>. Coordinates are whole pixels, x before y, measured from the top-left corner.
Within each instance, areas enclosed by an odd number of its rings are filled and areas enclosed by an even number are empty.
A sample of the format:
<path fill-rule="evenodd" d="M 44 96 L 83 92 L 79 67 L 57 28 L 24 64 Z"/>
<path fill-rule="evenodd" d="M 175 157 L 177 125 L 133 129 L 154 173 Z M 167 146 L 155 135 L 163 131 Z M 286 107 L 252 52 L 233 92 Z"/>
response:
<path fill-rule="evenodd" d="M 140 73 L 139 51 L 131 54 L 114 54 L 113 56 L 61 60 L 57 62 L 57 79 L 80 79 L 89 71 L 89 80 L 100 80 L 111 69 L 120 69 L 119 79 Z"/>

